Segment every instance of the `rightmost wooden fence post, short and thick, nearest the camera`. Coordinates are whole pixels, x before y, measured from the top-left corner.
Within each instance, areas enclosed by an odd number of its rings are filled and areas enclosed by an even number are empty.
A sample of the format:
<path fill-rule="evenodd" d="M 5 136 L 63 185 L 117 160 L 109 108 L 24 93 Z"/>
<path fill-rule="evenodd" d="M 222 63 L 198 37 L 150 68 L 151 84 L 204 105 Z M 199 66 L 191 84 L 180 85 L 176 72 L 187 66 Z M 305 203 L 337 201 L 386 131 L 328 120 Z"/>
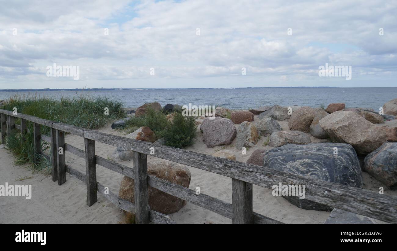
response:
<path fill-rule="evenodd" d="M 233 224 L 252 223 L 252 183 L 231 179 Z"/>

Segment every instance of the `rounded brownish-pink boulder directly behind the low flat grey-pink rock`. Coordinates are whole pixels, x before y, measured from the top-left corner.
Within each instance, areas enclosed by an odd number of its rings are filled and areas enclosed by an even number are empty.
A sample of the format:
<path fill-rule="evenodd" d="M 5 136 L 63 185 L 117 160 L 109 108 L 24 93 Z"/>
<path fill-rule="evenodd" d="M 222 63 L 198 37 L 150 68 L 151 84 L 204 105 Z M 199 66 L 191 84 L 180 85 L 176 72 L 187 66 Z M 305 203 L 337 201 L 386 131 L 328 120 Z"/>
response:
<path fill-rule="evenodd" d="M 303 106 L 294 112 L 292 112 L 291 118 L 289 118 L 288 126 L 291 131 L 310 131 L 310 124 L 314 119 L 314 109 L 309 106 Z"/>

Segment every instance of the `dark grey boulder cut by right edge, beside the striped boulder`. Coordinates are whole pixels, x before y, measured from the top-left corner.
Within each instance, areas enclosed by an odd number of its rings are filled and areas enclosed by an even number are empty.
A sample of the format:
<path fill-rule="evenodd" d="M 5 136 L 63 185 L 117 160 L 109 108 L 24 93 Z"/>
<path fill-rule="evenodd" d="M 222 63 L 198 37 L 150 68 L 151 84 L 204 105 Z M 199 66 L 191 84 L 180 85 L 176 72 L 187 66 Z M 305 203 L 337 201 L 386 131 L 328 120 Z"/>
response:
<path fill-rule="evenodd" d="M 388 187 L 397 186 L 397 143 L 384 143 L 368 154 L 364 171 Z"/>

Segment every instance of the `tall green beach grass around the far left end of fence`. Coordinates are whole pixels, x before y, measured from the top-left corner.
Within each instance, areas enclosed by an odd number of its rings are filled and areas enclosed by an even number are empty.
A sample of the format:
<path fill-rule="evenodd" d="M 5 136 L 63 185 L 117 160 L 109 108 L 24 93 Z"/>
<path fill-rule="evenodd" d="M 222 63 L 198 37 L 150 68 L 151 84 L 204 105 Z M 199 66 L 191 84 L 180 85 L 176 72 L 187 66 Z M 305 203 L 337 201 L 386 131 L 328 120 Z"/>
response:
<path fill-rule="evenodd" d="M 94 98 L 89 95 L 60 99 L 38 95 L 15 95 L 4 102 L 1 108 L 10 111 L 16 108 L 18 113 L 87 129 L 97 129 L 126 116 L 121 102 L 109 98 Z M 107 110 L 108 114 L 105 112 Z M 15 124 L 20 124 L 20 119 L 15 119 Z M 51 165 L 48 160 L 43 155 L 34 152 L 33 123 L 27 122 L 27 128 L 29 132 L 25 134 L 25 140 L 21 140 L 21 134 L 16 129 L 8 135 L 6 147 L 15 155 L 16 165 L 28 164 L 33 172 L 44 170 L 49 173 Z M 40 132 L 50 136 L 49 127 L 41 126 Z M 42 142 L 42 152 L 49 151 L 49 144 Z"/>

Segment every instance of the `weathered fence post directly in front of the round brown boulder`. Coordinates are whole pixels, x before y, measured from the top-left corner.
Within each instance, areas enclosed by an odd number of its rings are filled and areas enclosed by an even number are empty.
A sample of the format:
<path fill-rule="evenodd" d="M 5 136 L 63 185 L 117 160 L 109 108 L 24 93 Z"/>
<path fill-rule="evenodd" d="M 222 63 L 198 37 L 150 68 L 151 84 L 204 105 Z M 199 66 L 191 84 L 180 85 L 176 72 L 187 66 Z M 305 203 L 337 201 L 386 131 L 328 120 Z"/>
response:
<path fill-rule="evenodd" d="M 149 222 L 148 176 L 146 154 L 134 151 L 135 223 Z"/>

